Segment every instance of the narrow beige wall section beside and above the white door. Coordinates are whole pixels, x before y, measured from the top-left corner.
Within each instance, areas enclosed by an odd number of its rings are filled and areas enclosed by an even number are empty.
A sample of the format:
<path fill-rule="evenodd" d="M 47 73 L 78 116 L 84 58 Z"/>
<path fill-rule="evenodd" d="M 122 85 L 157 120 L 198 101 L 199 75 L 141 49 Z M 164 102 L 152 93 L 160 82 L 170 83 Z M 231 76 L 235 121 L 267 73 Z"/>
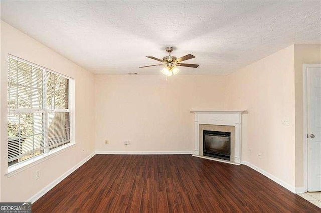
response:
<path fill-rule="evenodd" d="M 303 187 L 303 63 L 321 63 L 321 45 L 295 44 L 295 187 Z"/>

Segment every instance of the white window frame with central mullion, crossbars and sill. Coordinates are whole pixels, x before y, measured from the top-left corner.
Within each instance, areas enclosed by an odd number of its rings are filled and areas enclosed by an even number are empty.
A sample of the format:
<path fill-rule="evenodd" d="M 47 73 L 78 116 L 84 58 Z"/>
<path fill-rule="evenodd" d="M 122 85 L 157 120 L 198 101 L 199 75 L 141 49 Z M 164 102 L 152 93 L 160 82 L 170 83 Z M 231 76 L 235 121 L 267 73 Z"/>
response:
<path fill-rule="evenodd" d="M 23 171 L 31 166 L 34 166 L 35 164 L 38 164 L 44 160 L 47 160 L 61 152 L 64 152 L 65 150 L 68 150 L 76 145 L 76 140 L 75 140 L 75 80 L 72 77 L 66 76 L 64 74 L 61 74 L 59 72 L 53 71 L 51 69 L 48 69 L 46 67 L 34 64 L 32 62 L 29 62 L 27 60 L 24 60 L 22 58 L 16 57 L 14 55 L 8 54 L 8 60 L 7 60 L 7 86 L 9 82 L 9 59 L 14 59 L 23 63 L 26 63 L 30 66 L 42 69 L 43 72 L 43 84 L 46 85 L 47 82 L 47 72 L 51 72 L 53 74 L 56 74 L 58 76 L 67 78 L 69 80 L 69 91 L 68 91 L 68 109 L 49 109 L 47 108 L 47 90 L 44 89 L 44 85 L 42 87 L 43 91 L 43 105 L 42 109 L 10 109 L 8 107 L 7 103 L 7 116 L 10 113 L 42 113 L 43 116 L 45 117 L 44 123 L 43 123 L 43 128 L 48 129 L 49 123 L 47 122 L 48 115 L 50 113 L 59 113 L 59 112 L 69 112 L 69 128 L 70 128 L 70 142 L 63 144 L 61 146 L 55 147 L 52 150 L 49 150 L 49 147 L 43 149 L 44 153 L 41 153 L 36 156 L 32 156 L 29 159 L 23 160 L 21 162 L 18 162 L 16 164 L 13 164 L 11 166 L 8 165 L 8 148 L 7 148 L 7 166 L 8 166 L 8 172 L 6 175 L 8 177 L 15 175 L 16 173 L 19 173 L 20 171 Z M 7 101 L 8 101 L 8 88 L 6 89 L 7 91 Z M 17 103 L 18 104 L 18 103 Z M 7 117 L 7 128 L 8 128 L 8 117 Z M 8 131 L 8 129 L 7 129 Z M 44 146 L 46 146 L 46 143 L 48 143 L 48 131 L 47 134 L 43 136 L 44 140 Z M 48 145 L 48 144 L 47 144 Z M 8 139 L 7 139 L 7 147 L 8 147 Z"/>

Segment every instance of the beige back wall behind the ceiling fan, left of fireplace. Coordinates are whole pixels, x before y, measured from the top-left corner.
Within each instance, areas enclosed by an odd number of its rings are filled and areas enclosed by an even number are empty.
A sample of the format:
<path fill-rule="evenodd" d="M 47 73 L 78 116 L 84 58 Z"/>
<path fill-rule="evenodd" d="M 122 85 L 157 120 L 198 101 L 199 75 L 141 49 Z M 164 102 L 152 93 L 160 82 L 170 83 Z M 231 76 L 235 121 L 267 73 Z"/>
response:
<path fill-rule="evenodd" d="M 226 76 L 180 74 L 167 81 L 162 75 L 97 75 L 96 150 L 194 150 L 189 110 L 226 108 Z"/>

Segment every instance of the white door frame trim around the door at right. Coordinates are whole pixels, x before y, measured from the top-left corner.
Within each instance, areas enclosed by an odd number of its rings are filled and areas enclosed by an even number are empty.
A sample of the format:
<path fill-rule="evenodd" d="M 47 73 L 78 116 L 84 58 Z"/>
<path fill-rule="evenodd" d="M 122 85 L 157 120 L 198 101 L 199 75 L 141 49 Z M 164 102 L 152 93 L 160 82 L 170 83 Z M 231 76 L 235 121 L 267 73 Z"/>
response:
<path fill-rule="evenodd" d="M 303 181 L 304 192 L 307 192 L 307 171 L 308 171 L 308 148 L 307 148 L 307 68 L 321 67 L 319 63 L 303 64 Z"/>

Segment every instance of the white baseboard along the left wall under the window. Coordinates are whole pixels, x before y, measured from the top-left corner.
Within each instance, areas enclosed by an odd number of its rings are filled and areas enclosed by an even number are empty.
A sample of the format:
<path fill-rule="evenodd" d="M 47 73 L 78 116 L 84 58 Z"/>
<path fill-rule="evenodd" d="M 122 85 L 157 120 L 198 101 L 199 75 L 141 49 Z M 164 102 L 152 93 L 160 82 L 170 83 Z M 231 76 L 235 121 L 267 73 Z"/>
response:
<path fill-rule="evenodd" d="M 53 187 L 55 187 L 58 183 L 60 183 L 63 179 L 65 179 L 69 174 L 77 170 L 80 166 L 82 166 L 85 162 L 87 162 L 90 158 L 95 156 L 95 152 L 91 153 L 89 156 L 87 156 L 85 159 L 81 160 L 78 164 L 76 164 L 74 167 L 66 171 L 63 175 L 58 177 L 56 180 L 53 182 L 49 183 L 46 187 L 44 187 L 41 191 L 37 192 L 35 195 L 30 197 L 29 199 L 26 200 L 26 202 L 31 202 L 34 203 L 37 201 L 40 197 L 45 195 L 48 191 L 50 191 Z"/>

